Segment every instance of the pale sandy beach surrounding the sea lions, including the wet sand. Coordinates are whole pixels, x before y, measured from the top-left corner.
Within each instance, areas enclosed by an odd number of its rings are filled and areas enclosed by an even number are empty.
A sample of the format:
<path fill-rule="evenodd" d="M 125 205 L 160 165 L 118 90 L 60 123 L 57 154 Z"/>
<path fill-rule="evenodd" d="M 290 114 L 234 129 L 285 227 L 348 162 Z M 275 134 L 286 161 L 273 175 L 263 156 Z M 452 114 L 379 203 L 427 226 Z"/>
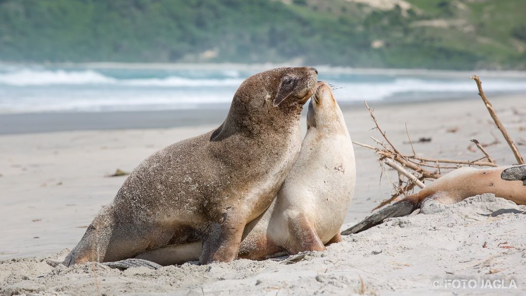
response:
<path fill-rule="evenodd" d="M 337 91 L 335 96 L 338 98 Z M 519 150 L 526 154 L 526 98 L 490 99 Z M 369 105 L 389 138 L 408 154 L 412 152 L 406 123 L 420 156 L 475 160 L 483 155 L 468 149 L 470 139 L 490 143 L 496 137 L 500 142 L 487 147 L 489 154 L 499 165 L 515 163 L 475 91 L 462 100 Z M 381 137 L 371 130 L 374 125 L 365 107 L 343 106 L 343 112 L 353 140 L 374 145 L 370 136 Z M 55 121 L 45 115 L 39 121 L 32 121 L 32 115 L 16 115 L 18 121 L 0 116 L 4 123 L 0 124 L 0 294 L 524 293 L 526 208 L 490 195 L 467 199 L 438 213 L 429 210 L 389 219 L 296 263 L 238 260 L 156 271 L 119 271 L 98 263 L 73 268 L 46 263 L 46 259 L 64 257 L 64 249 L 75 246 L 126 178 L 108 175 L 117 168 L 130 171 L 156 150 L 217 127 L 225 115 L 226 109 L 218 108 L 203 114 L 66 114 Z M 92 130 L 85 130 L 86 125 Z M 420 138 L 431 141 L 418 143 Z M 342 228 L 370 215 L 372 208 L 390 197 L 388 178 L 396 178 L 388 172 L 380 179 L 377 156 L 366 148 L 354 149 L 357 186 Z M 477 286 L 457 289 L 451 282 L 455 279 L 475 280 Z M 501 280 L 500 288 L 483 287 L 485 280 L 494 285 L 495 279 Z M 511 287 L 511 280 L 516 288 Z M 503 289 L 504 285 L 510 289 Z"/>

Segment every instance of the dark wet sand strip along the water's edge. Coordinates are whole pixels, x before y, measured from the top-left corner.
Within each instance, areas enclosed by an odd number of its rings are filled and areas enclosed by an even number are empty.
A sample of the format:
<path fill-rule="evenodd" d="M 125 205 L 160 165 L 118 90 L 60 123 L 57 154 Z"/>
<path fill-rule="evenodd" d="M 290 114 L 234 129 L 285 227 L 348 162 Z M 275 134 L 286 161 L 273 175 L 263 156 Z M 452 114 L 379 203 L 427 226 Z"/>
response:
<path fill-rule="evenodd" d="M 522 99 L 525 95 L 503 94 L 491 97 L 498 102 L 507 99 Z M 470 96 L 440 100 L 419 101 L 368 101 L 381 108 L 447 105 L 455 102 L 480 100 L 474 93 Z M 339 103 L 343 112 L 363 107 L 363 102 Z M 482 104 L 482 103 L 480 103 Z M 220 125 L 228 113 L 229 104 L 203 105 L 195 109 L 168 109 L 144 111 L 102 111 L 102 112 L 56 112 L 56 113 L 14 113 L 0 114 L 0 135 L 42 134 L 62 131 L 170 129 L 191 126 Z M 365 110 L 365 109 L 364 109 Z M 302 116 L 306 116 L 304 107 Z"/>

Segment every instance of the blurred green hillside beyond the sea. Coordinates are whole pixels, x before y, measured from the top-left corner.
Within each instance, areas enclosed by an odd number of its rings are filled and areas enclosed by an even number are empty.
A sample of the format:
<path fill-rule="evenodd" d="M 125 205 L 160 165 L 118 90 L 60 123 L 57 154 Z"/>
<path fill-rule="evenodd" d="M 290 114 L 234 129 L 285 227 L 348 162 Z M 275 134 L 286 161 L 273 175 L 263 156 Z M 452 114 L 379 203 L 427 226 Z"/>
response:
<path fill-rule="evenodd" d="M 0 0 L 9 62 L 526 69 L 526 1 Z"/>

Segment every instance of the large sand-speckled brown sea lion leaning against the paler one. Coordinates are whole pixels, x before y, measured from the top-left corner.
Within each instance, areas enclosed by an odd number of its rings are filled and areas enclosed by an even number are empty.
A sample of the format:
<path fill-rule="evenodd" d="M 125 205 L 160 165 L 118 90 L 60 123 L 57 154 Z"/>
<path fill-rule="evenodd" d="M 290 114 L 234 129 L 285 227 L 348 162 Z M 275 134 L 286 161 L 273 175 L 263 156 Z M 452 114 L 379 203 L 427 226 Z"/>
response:
<path fill-rule="evenodd" d="M 201 263 L 235 259 L 246 224 L 268 208 L 294 165 L 302 105 L 316 86 L 311 67 L 247 78 L 219 128 L 156 152 L 130 173 L 64 264 L 193 241 L 204 243 Z"/>

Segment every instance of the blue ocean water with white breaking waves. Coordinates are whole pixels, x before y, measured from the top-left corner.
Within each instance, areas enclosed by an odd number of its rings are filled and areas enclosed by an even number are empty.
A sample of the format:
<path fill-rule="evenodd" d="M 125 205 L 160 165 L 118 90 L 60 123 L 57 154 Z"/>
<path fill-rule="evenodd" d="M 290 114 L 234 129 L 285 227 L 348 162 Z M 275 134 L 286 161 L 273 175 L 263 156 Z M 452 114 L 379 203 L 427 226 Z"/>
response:
<path fill-rule="evenodd" d="M 0 114 L 195 109 L 230 104 L 239 84 L 271 66 L 0 66 Z M 476 96 L 470 73 L 318 67 L 340 104 Z M 526 95 L 526 74 L 484 72 L 488 96 Z"/>

